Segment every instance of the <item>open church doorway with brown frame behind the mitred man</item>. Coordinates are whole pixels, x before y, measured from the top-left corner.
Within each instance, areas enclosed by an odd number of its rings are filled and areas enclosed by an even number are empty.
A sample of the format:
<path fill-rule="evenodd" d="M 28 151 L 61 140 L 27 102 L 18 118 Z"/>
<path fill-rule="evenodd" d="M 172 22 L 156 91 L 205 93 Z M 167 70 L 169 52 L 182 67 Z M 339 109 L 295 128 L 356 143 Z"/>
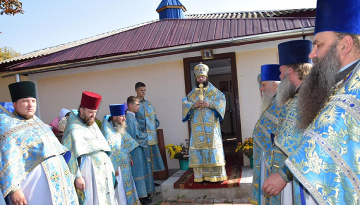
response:
<path fill-rule="evenodd" d="M 203 60 L 201 56 L 184 58 L 186 94 L 195 87 L 193 69 L 199 62 L 209 67 L 209 82 L 225 95 L 225 116 L 223 121 L 220 122 L 220 129 L 226 163 L 239 163 L 243 165 L 242 155 L 235 153 L 237 142 L 241 142 L 235 53 L 215 54 L 213 59 L 206 60 Z"/>

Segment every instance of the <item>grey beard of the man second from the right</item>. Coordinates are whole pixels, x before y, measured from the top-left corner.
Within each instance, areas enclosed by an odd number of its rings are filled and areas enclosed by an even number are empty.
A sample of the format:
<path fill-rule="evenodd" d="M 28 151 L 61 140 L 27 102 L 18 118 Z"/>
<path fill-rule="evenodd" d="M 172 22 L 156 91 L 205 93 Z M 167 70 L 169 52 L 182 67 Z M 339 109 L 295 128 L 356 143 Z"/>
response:
<path fill-rule="evenodd" d="M 288 79 L 287 73 L 285 73 L 283 79 L 276 89 L 276 102 L 279 107 L 285 105 L 288 99 L 292 98 L 295 93 L 295 85 Z"/>

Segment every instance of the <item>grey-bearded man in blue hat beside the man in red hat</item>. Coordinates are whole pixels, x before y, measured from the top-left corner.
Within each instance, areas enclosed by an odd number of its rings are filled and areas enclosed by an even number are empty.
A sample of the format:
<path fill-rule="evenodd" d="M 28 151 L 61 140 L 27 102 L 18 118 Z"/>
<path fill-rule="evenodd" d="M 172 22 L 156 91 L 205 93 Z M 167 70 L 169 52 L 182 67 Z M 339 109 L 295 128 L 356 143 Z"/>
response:
<path fill-rule="evenodd" d="M 117 187 L 115 198 L 119 205 L 140 204 L 131 175 L 130 152 L 138 147 L 137 142 L 126 132 L 125 104 L 109 105 L 110 115 L 105 115 L 101 132 L 111 148 L 111 162 L 115 168 Z"/>

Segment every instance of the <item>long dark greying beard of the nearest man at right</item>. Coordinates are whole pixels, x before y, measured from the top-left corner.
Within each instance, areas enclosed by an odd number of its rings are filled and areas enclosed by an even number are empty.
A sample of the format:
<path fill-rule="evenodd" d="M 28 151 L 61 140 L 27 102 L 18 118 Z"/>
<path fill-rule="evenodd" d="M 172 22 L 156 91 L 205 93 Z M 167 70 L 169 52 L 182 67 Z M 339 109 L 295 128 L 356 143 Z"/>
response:
<path fill-rule="evenodd" d="M 314 65 L 305 77 L 298 94 L 299 128 L 306 128 L 330 97 L 341 66 L 336 50 L 337 41 L 331 44 L 322 58 L 314 58 Z"/>

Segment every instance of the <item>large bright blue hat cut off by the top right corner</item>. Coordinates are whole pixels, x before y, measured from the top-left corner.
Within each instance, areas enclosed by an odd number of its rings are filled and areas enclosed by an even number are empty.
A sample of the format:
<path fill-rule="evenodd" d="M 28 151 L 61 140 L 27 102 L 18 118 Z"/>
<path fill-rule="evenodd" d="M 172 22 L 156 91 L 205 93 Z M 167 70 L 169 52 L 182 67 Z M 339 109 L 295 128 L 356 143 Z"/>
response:
<path fill-rule="evenodd" d="M 360 34 L 360 0 L 317 0 L 314 35 L 323 31 Z"/>

